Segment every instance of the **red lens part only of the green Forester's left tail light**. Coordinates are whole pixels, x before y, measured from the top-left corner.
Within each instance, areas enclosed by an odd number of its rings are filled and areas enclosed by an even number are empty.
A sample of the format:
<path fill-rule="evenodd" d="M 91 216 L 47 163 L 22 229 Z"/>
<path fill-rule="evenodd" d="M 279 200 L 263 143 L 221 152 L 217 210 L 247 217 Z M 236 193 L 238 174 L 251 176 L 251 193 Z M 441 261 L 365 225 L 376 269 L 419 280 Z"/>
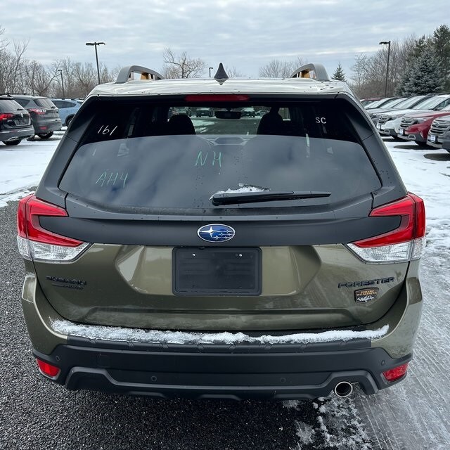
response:
<path fill-rule="evenodd" d="M 67 217 L 68 213 L 56 205 L 38 200 L 33 194 L 28 195 L 19 202 L 17 214 L 18 235 L 39 243 L 77 247 L 81 240 L 66 238 L 51 231 L 47 231 L 39 224 L 41 216 Z"/>

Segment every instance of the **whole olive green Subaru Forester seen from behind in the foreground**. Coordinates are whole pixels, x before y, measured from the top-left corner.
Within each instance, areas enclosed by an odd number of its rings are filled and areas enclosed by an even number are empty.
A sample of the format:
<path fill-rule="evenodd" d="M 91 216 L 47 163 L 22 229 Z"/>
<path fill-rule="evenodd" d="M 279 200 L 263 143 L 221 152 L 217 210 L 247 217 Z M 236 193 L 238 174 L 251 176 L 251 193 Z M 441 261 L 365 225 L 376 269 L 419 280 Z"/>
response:
<path fill-rule="evenodd" d="M 403 380 L 424 205 L 349 87 L 321 65 L 161 78 L 131 66 L 97 86 L 20 201 L 41 373 L 70 390 L 214 399 Z M 184 107 L 215 114 L 169 118 Z"/>

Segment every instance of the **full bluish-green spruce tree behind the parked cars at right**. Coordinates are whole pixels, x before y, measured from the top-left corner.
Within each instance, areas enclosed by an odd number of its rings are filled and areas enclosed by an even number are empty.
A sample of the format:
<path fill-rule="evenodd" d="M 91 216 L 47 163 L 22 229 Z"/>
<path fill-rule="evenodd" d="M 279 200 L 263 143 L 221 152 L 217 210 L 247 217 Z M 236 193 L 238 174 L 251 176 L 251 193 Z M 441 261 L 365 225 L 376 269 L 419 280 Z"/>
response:
<path fill-rule="evenodd" d="M 439 67 L 439 59 L 435 50 L 428 46 L 406 70 L 397 94 L 418 96 L 442 90 L 443 79 Z"/>

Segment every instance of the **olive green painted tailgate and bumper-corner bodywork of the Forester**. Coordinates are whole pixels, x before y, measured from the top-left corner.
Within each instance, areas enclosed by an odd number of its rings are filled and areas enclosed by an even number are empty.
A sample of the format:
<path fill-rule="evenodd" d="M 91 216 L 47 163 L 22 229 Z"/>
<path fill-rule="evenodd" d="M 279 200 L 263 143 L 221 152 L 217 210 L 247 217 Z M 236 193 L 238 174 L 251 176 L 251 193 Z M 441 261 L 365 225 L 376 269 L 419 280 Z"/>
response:
<path fill-rule="evenodd" d="M 262 255 L 262 295 L 257 297 L 174 295 L 172 248 L 93 245 L 74 263 L 26 262 L 30 271 L 23 305 L 33 345 L 49 353 L 64 342 L 65 336 L 51 328 L 58 319 L 153 330 L 264 333 L 355 326 L 375 330 L 387 324 L 389 333 L 373 346 L 392 357 L 411 352 L 422 300 L 417 262 L 364 264 L 343 245 L 268 247 Z M 85 284 L 74 288 L 48 276 Z M 359 286 L 338 288 L 345 281 L 392 276 L 393 281 L 376 285 L 378 297 L 372 302 L 355 302 Z"/>

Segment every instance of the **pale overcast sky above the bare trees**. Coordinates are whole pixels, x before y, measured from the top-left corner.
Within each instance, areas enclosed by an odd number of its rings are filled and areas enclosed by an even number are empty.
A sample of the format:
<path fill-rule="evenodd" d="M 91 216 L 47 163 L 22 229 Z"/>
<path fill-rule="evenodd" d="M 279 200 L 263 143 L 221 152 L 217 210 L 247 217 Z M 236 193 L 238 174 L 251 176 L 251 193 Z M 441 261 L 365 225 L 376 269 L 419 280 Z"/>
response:
<path fill-rule="evenodd" d="M 342 64 L 347 78 L 357 53 L 380 41 L 402 41 L 450 25 L 449 0 L 2 0 L 0 27 L 28 40 L 25 58 L 70 58 L 108 68 L 144 65 L 160 71 L 162 52 L 187 51 L 217 68 L 256 77 L 273 59 Z M 12 47 L 10 46 L 12 50 Z M 208 75 L 207 72 L 205 75 Z"/>

